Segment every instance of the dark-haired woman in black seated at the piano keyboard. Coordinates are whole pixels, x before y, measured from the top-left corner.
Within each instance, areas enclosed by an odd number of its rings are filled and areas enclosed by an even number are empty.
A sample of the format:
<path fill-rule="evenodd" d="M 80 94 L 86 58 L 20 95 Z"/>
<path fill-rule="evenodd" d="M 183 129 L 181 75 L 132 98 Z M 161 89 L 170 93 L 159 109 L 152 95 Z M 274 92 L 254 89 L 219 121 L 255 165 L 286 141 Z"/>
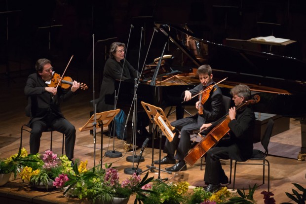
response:
<path fill-rule="evenodd" d="M 105 66 L 104 66 L 103 80 L 102 80 L 101 89 L 100 89 L 100 97 L 97 102 L 97 112 L 114 110 L 115 105 L 107 104 L 105 102 L 105 97 L 107 95 L 114 95 L 115 80 L 134 79 L 137 76 L 140 76 L 140 73 L 136 69 L 134 69 L 126 59 L 124 60 L 124 57 L 125 57 L 125 44 L 122 42 L 113 42 L 110 46 L 109 58 L 106 61 Z M 123 64 L 124 64 L 124 67 L 123 67 Z M 122 77 L 121 77 L 121 73 L 122 73 Z M 114 101 L 114 100 L 110 100 L 110 101 Z M 123 117 L 126 117 L 126 116 L 123 116 Z M 128 124 L 128 129 L 125 130 L 128 136 L 127 138 L 128 143 L 130 140 L 129 137 L 131 136 L 131 132 L 132 132 L 129 126 L 130 124 Z M 124 135 L 126 135 L 126 133 Z M 124 136 L 122 135 L 120 135 L 120 137 L 124 138 Z"/>

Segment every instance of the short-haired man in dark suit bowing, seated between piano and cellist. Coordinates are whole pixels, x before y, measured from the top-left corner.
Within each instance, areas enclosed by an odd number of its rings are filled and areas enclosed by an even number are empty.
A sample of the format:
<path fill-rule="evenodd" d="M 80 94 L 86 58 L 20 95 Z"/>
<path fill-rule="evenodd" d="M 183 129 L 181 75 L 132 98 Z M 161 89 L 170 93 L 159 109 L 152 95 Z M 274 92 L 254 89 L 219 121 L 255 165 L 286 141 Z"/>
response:
<path fill-rule="evenodd" d="M 193 89 L 186 90 L 183 93 L 184 101 L 190 101 L 192 95 L 198 94 L 199 92 L 205 90 L 208 86 L 215 84 L 213 81 L 212 69 L 209 65 L 200 66 L 197 69 L 197 74 L 201 83 Z M 184 158 L 190 149 L 190 135 L 193 131 L 199 130 L 202 124 L 215 121 L 224 115 L 224 111 L 222 111 L 222 101 L 221 89 L 215 85 L 204 104 L 200 104 L 201 102 L 195 103 L 195 107 L 198 110 L 203 109 L 201 114 L 197 113 L 191 117 L 182 118 L 171 123 L 171 126 L 176 128 L 176 136 L 173 138 L 172 142 L 169 142 L 168 139 L 166 140 L 163 152 L 167 153 L 167 156 L 160 160 L 160 164 L 175 165 L 170 168 L 166 168 L 166 170 L 187 170 Z M 200 107 L 200 105 L 202 105 L 202 107 Z M 180 139 L 178 138 L 179 131 L 181 131 Z M 175 151 L 176 154 L 174 155 Z M 178 160 L 177 163 L 176 160 Z M 159 161 L 154 161 L 154 164 L 159 164 Z"/>

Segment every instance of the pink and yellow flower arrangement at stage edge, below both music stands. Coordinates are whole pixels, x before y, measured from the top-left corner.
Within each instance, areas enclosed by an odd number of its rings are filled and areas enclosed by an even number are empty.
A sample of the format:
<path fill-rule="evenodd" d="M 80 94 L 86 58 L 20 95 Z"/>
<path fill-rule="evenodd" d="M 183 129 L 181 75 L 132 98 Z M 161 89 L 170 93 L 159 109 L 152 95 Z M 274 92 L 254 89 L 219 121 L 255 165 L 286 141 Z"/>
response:
<path fill-rule="evenodd" d="M 135 202 L 140 202 L 147 194 L 154 193 L 149 184 L 153 177 L 148 178 L 148 172 L 143 179 L 134 173 L 120 184 L 118 170 L 111 168 L 112 165 L 106 164 L 106 169 L 94 167 L 90 170 L 87 170 L 86 166 L 86 161 L 80 162 L 78 167 L 75 164 L 73 171 L 55 178 L 53 185 L 63 188 L 65 196 L 86 198 L 92 203 L 111 203 L 115 197 L 129 198 L 132 194 L 136 195 Z"/>

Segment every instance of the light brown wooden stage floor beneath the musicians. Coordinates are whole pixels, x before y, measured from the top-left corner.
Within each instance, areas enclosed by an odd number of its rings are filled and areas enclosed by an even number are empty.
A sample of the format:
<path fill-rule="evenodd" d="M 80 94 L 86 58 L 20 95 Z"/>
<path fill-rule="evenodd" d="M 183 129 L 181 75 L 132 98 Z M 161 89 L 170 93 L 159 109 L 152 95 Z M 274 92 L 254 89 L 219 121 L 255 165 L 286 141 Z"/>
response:
<path fill-rule="evenodd" d="M 79 74 L 81 75 L 81 74 Z M 18 151 L 20 144 L 20 128 L 21 125 L 28 122 L 28 118 L 24 114 L 24 107 L 26 106 L 26 97 L 23 94 L 23 88 L 25 85 L 27 76 L 16 79 L 15 83 L 10 83 L 8 86 L 6 83 L 2 84 L 1 98 L 0 98 L 0 158 L 6 158 Z M 62 111 L 66 118 L 75 125 L 76 132 L 76 145 L 75 145 L 75 159 L 81 161 L 88 160 L 88 167 L 94 165 L 94 142 L 93 136 L 90 136 L 89 131 L 79 132 L 78 128 L 82 127 L 89 119 L 89 111 L 92 109 L 89 105 L 89 101 L 92 99 L 92 89 L 86 91 L 80 91 L 75 100 L 65 102 L 62 105 Z M 189 107 L 192 112 L 192 107 Z M 167 112 L 167 111 L 165 111 Z M 174 116 L 170 115 L 169 120 L 173 121 Z M 45 133 L 41 137 L 40 153 L 49 148 L 50 139 L 49 134 Z M 98 130 L 96 139 L 96 161 L 99 163 L 100 150 L 101 150 L 101 130 Z M 108 150 L 119 151 L 123 154 L 120 158 L 108 158 L 103 157 L 103 164 L 113 163 L 113 166 L 119 170 L 120 180 L 128 177 L 123 171 L 126 168 L 132 168 L 136 166 L 136 163 L 126 161 L 127 156 L 133 155 L 133 152 L 123 151 L 123 142 L 115 138 L 115 146 L 113 145 L 113 138 L 109 138 L 106 135 L 103 138 L 103 154 Z M 61 134 L 54 132 L 53 139 L 53 151 L 57 154 L 61 154 Z M 290 130 L 281 134 L 273 136 L 271 138 L 271 144 L 279 145 L 278 151 L 286 151 L 281 149 L 281 144 L 291 145 L 295 147 L 301 146 L 301 128 L 298 121 L 290 119 Z M 23 138 L 23 146 L 30 151 L 29 148 L 29 134 L 25 133 Z M 140 145 L 141 146 L 141 145 Z M 297 148 L 293 148 L 291 151 L 298 151 Z M 140 150 L 136 150 L 135 155 L 139 155 Z M 297 154 L 297 152 L 289 152 L 289 154 Z M 158 149 L 154 149 L 152 154 L 152 148 L 147 147 L 143 153 L 145 161 L 139 164 L 139 168 L 142 170 L 147 169 L 147 165 L 151 165 L 153 159 L 157 160 L 159 156 Z M 164 154 L 162 153 L 161 157 Z M 298 161 L 297 159 L 290 159 L 277 155 L 276 153 L 268 156 L 270 162 L 270 191 L 274 194 L 276 203 L 290 202 L 285 192 L 291 192 L 294 187 L 292 183 L 299 183 L 306 187 L 306 165 L 305 161 Z M 229 161 L 222 161 L 223 168 L 229 176 Z M 161 169 L 169 167 L 171 165 L 162 165 Z M 188 181 L 192 186 L 204 186 L 203 177 L 205 165 L 203 170 L 200 170 L 200 161 L 194 166 L 188 166 L 187 171 L 173 172 L 172 174 L 160 173 L 161 178 L 168 178 L 169 181 Z M 158 168 L 158 166 L 155 165 Z M 249 185 L 253 186 L 255 183 L 260 184 L 262 179 L 262 167 L 261 166 L 239 166 L 236 175 L 236 187 L 248 188 Z M 158 172 L 150 172 L 150 176 L 157 178 Z M 232 184 L 228 185 L 228 188 L 232 188 Z M 263 203 L 263 195 L 260 194 L 263 190 L 267 190 L 267 176 L 266 184 L 259 186 L 255 192 L 255 199 L 258 204 Z M 88 201 L 78 201 L 76 199 L 70 199 L 63 197 L 62 191 L 55 190 L 52 192 L 39 192 L 30 188 L 27 183 L 23 183 L 21 179 L 17 179 L 8 182 L 6 185 L 0 187 L 0 197 L 4 202 L 8 203 L 15 199 L 15 203 L 89 203 Z M 129 203 L 133 203 L 131 198 Z"/>

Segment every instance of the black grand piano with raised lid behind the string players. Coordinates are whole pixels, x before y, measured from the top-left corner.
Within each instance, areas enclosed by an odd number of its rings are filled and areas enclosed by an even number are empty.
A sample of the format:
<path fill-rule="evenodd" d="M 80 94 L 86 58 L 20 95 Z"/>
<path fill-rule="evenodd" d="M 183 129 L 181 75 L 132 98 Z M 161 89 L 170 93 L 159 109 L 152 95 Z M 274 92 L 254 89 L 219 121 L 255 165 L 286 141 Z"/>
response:
<path fill-rule="evenodd" d="M 224 95 L 239 83 L 247 84 L 252 94 L 261 97 L 254 104 L 256 112 L 298 118 L 302 125 L 302 148 L 306 153 L 306 63 L 298 59 L 271 53 L 230 47 L 194 36 L 187 26 L 155 23 L 158 31 L 176 46 L 175 54 L 164 61 L 163 67 L 149 66 L 138 84 L 137 98 L 141 101 L 166 107 L 179 106 L 184 90 L 193 88 L 199 81 L 196 68 L 209 64 L 214 80 L 228 77 L 219 84 Z M 161 56 L 160 56 L 161 57 Z M 121 85 L 118 107 L 131 104 L 134 83 Z M 121 98 L 121 99 L 120 99 Z M 194 104 L 194 102 L 192 103 Z"/>

